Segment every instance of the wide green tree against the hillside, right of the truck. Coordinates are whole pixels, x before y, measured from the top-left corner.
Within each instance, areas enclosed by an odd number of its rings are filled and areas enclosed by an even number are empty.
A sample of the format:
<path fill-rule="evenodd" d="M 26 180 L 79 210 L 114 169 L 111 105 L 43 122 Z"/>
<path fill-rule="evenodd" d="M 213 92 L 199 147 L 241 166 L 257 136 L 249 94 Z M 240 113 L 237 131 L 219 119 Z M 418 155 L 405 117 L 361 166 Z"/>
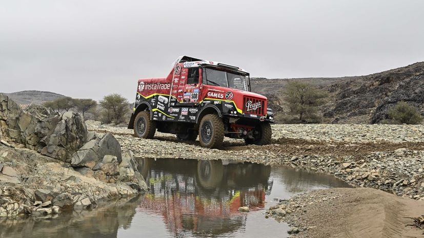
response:
<path fill-rule="evenodd" d="M 308 118 L 317 120 L 316 111 L 326 97 L 326 92 L 310 83 L 300 81 L 288 82 L 284 92 L 284 99 L 289 103 L 290 114 L 297 115 L 300 122 L 306 122 Z"/>

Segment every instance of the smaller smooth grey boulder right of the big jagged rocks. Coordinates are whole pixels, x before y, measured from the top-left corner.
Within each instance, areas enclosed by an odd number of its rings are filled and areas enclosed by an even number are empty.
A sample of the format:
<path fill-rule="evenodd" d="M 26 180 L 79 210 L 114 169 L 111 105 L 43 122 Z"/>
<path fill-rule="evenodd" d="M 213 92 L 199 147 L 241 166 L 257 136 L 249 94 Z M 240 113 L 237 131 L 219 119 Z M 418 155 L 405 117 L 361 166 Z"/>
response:
<path fill-rule="evenodd" d="M 98 169 L 100 165 L 96 165 L 102 162 L 106 155 L 116 157 L 118 163 L 122 161 L 120 144 L 110 133 L 106 133 L 101 139 L 95 138 L 84 144 L 72 155 L 71 165 Z"/>

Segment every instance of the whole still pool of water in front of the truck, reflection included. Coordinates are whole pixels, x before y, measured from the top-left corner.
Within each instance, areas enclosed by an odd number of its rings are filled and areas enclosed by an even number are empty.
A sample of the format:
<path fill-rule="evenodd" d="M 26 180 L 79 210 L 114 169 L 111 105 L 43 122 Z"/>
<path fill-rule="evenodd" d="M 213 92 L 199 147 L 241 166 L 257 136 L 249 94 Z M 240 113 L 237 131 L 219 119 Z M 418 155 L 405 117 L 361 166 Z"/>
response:
<path fill-rule="evenodd" d="M 287 237 L 288 226 L 265 219 L 265 208 L 311 189 L 349 186 L 325 174 L 228 160 L 139 164 L 148 193 L 55 219 L 0 220 L 0 237 Z"/>

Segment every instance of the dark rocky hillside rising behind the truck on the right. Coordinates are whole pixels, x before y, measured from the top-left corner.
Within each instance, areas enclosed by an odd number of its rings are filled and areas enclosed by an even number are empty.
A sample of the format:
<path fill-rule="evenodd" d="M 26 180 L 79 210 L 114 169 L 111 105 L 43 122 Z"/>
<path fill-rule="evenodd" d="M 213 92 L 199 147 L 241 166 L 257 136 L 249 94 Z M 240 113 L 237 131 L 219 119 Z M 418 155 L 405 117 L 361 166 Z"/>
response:
<path fill-rule="evenodd" d="M 278 96 L 289 80 L 313 83 L 329 92 L 321 106 L 327 123 L 378 123 L 398 101 L 417 106 L 424 115 L 424 62 L 381 73 L 341 78 L 252 79 L 254 92 L 270 98 L 270 105 L 281 113 L 285 102 Z"/>

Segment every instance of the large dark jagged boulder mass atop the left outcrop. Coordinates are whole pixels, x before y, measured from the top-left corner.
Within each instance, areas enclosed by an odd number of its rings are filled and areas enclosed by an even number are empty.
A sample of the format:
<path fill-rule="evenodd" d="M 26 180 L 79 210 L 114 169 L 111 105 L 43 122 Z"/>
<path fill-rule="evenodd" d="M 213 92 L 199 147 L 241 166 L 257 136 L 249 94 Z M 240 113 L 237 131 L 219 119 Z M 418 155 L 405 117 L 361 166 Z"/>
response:
<path fill-rule="evenodd" d="M 0 94 L 0 136 L 43 155 L 70 162 L 72 154 L 87 141 L 87 127 L 74 112 L 63 115 L 42 105 L 25 109 Z"/>

